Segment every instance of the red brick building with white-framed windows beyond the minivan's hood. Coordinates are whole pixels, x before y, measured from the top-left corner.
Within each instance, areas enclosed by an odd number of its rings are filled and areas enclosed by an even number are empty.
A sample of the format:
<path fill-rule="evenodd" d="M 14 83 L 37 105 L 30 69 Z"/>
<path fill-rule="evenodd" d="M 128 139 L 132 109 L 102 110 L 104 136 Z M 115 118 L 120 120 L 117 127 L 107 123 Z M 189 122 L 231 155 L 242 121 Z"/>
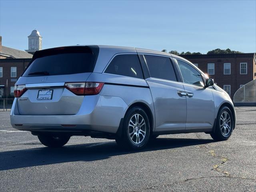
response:
<path fill-rule="evenodd" d="M 181 55 L 233 96 L 244 84 L 256 79 L 255 53 Z"/>

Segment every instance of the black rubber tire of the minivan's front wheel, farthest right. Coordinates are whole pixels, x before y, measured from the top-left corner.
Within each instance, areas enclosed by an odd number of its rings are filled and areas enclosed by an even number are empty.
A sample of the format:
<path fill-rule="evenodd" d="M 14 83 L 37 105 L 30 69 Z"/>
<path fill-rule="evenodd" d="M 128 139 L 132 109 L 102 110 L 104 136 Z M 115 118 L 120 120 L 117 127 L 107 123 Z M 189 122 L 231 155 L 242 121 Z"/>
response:
<path fill-rule="evenodd" d="M 225 113 L 228 113 L 228 115 L 230 116 L 230 124 L 229 123 L 227 124 L 228 126 L 230 126 L 230 130 L 227 131 L 226 134 L 224 134 L 223 132 L 225 132 L 224 130 L 228 130 L 228 128 L 222 128 L 222 126 L 221 126 L 222 123 L 227 122 L 227 121 L 222 120 L 223 119 L 222 114 L 224 115 Z M 216 126 L 215 131 L 210 133 L 211 137 L 214 140 L 224 141 L 224 140 L 228 140 L 228 138 L 230 138 L 231 133 L 234 128 L 234 117 L 228 107 L 224 106 L 219 110 L 215 126 Z"/>

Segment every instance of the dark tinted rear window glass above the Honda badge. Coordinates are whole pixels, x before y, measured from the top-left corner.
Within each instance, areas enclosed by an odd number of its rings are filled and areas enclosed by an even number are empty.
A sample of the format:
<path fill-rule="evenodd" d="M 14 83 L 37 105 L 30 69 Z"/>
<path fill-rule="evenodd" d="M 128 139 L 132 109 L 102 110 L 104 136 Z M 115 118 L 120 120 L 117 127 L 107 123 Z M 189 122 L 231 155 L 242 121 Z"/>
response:
<path fill-rule="evenodd" d="M 66 75 L 93 70 L 94 56 L 89 48 L 55 48 L 36 52 L 23 76 Z"/>

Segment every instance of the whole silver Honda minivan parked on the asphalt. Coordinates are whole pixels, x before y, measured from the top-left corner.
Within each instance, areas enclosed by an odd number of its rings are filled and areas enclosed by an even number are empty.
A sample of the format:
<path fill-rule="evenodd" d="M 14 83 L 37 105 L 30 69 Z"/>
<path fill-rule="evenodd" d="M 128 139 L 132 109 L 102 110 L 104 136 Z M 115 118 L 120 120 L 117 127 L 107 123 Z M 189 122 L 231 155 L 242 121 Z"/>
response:
<path fill-rule="evenodd" d="M 188 60 L 118 46 L 35 52 L 18 79 L 11 124 L 48 147 L 70 136 L 141 149 L 162 134 L 205 132 L 227 140 L 236 126 L 229 95 Z"/>

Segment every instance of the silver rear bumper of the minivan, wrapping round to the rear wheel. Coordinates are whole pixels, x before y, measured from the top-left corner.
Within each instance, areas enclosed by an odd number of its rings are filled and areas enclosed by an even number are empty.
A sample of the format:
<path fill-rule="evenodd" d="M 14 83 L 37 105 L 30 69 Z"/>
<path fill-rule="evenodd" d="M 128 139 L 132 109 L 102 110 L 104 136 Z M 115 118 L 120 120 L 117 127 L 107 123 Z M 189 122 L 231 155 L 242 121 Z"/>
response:
<path fill-rule="evenodd" d="M 127 108 L 127 104 L 120 97 L 98 94 L 85 96 L 80 110 L 75 115 L 20 115 L 15 98 L 10 120 L 13 128 L 32 132 L 90 130 L 116 133 Z"/>

